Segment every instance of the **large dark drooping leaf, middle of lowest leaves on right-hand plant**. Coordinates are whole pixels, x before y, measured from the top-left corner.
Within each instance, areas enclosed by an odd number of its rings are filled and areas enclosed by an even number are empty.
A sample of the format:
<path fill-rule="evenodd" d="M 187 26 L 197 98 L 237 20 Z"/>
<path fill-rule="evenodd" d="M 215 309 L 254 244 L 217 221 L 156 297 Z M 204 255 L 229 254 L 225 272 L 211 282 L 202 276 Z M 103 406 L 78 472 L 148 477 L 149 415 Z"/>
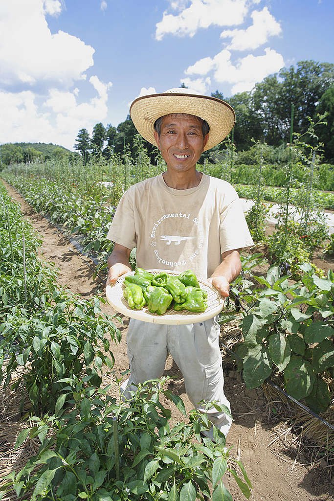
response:
<path fill-rule="evenodd" d="M 284 380 L 287 393 L 298 400 L 311 393 L 315 374 L 307 360 L 292 355 L 284 370 Z"/>

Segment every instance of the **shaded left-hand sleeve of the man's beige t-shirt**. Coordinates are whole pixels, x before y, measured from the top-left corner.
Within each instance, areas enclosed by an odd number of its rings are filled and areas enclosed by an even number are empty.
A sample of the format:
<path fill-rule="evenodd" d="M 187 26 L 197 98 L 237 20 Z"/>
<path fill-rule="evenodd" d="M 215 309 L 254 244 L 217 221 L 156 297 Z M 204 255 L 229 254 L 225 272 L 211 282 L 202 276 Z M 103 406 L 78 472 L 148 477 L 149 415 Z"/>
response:
<path fill-rule="evenodd" d="M 137 245 L 133 197 L 131 188 L 123 194 L 107 233 L 107 238 L 128 249 Z"/>

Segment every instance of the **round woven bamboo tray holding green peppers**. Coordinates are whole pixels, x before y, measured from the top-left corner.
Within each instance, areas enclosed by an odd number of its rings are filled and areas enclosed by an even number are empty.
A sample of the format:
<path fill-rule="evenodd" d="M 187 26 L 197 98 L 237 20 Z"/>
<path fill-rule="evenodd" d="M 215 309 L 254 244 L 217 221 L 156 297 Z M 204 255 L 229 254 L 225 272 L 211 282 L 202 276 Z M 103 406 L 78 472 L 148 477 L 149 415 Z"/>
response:
<path fill-rule="evenodd" d="M 170 272 L 167 270 L 147 270 L 151 273 L 161 273 L 166 272 L 168 275 L 179 275 L 179 273 Z M 153 324 L 165 324 L 165 325 L 182 325 L 182 324 L 195 324 L 196 322 L 204 322 L 204 320 L 209 320 L 215 317 L 221 312 L 224 299 L 221 298 L 219 293 L 213 289 L 209 284 L 199 280 L 200 288 L 207 292 L 207 309 L 203 313 L 191 313 L 185 310 L 181 312 L 176 312 L 174 310 L 167 310 L 164 315 L 156 315 L 148 311 L 146 307 L 141 310 L 131 310 L 129 308 L 127 301 L 123 297 L 123 282 L 125 277 L 129 275 L 134 275 L 134 272 L 122 275 L 117 282 L 113 285 L 107 285 L 106 296 L 108 303 L 119 313 L 126 315 L 130 318 L 135 318 L 137 320 L 142 320 L 143 322 L 150 322 Z"/>

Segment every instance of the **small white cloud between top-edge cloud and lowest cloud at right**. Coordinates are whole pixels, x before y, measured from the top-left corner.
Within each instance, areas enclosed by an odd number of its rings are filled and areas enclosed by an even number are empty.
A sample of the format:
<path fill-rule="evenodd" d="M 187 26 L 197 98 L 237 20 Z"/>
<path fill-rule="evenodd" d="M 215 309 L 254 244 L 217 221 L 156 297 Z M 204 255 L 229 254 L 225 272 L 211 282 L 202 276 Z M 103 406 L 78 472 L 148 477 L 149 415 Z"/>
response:
<path fill-rule="evenodd" d="M 221 38 L 232 37 L 227 49 L 235 51 L 254 50 L 265 44 L 269 37 L 281 33 L 279 23 L 271 16 L 266 7 L 262 11 L 253 11 L 251 17 L 253 24 L 246 30 L 225 30 L 221 33 Z"/>

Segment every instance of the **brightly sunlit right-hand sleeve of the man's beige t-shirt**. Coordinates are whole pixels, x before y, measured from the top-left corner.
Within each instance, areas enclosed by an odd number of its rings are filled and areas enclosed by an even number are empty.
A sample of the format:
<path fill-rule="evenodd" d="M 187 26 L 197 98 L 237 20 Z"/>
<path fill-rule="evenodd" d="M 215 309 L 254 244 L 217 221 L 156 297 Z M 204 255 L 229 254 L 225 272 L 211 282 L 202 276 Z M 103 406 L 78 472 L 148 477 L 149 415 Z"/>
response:
<path fill-rule="evenodd" d="M 220 254 L 227 250 L 254 245 L 238 194 L 232 186 L 230 188 L 229 193 L 224 197 L 220 212 Z"/>

